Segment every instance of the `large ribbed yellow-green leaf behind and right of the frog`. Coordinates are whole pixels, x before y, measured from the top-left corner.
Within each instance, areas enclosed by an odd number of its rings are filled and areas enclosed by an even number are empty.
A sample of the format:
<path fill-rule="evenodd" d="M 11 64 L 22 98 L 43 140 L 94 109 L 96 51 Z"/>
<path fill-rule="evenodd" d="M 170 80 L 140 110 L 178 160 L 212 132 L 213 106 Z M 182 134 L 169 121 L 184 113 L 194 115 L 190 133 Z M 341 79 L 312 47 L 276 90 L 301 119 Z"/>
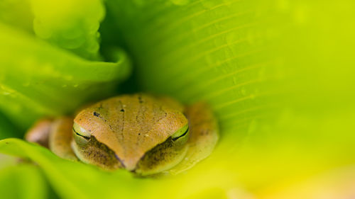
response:
<path fill-rule="evenodd" d="M 222 132 L 210 160 L 257 194 L 354 164 L 354 5 L 107 1 L 107 12 L 145 91 L 211 104 Z"/>

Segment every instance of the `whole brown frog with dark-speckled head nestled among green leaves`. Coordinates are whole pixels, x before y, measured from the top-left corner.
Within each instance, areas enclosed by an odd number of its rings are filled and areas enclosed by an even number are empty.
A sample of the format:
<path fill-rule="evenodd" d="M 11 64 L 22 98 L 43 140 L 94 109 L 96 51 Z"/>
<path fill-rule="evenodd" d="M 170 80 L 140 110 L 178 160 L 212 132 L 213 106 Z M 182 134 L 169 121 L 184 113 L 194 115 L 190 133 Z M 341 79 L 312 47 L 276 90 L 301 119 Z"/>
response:
<path fill-rule="evenodd" d="M 133 93 L 81 108 L 75 116 L 42 118 L 28 142 L 62 159 L 137 176 L 180 174 L 212 153 L 219 126 L 207 103 Z"/>

